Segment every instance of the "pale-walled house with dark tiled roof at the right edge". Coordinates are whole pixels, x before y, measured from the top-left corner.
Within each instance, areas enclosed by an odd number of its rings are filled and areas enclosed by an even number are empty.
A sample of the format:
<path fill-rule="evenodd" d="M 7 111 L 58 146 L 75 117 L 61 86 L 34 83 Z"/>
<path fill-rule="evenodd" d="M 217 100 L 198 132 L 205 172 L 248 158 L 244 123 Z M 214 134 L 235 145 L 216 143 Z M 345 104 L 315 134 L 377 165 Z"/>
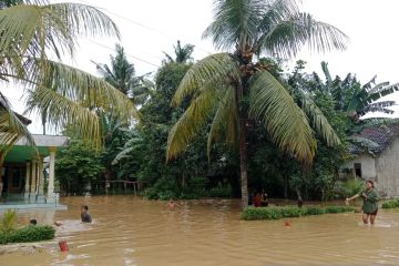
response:
<path fill-rule="evenodd" d="M 356 157 L 342 170 L 376 182 L 382 197 L 399 197 L 399 124 L 374 125 L 355 136 L 368 144 L 351 144 L 349 150 Z"/>

